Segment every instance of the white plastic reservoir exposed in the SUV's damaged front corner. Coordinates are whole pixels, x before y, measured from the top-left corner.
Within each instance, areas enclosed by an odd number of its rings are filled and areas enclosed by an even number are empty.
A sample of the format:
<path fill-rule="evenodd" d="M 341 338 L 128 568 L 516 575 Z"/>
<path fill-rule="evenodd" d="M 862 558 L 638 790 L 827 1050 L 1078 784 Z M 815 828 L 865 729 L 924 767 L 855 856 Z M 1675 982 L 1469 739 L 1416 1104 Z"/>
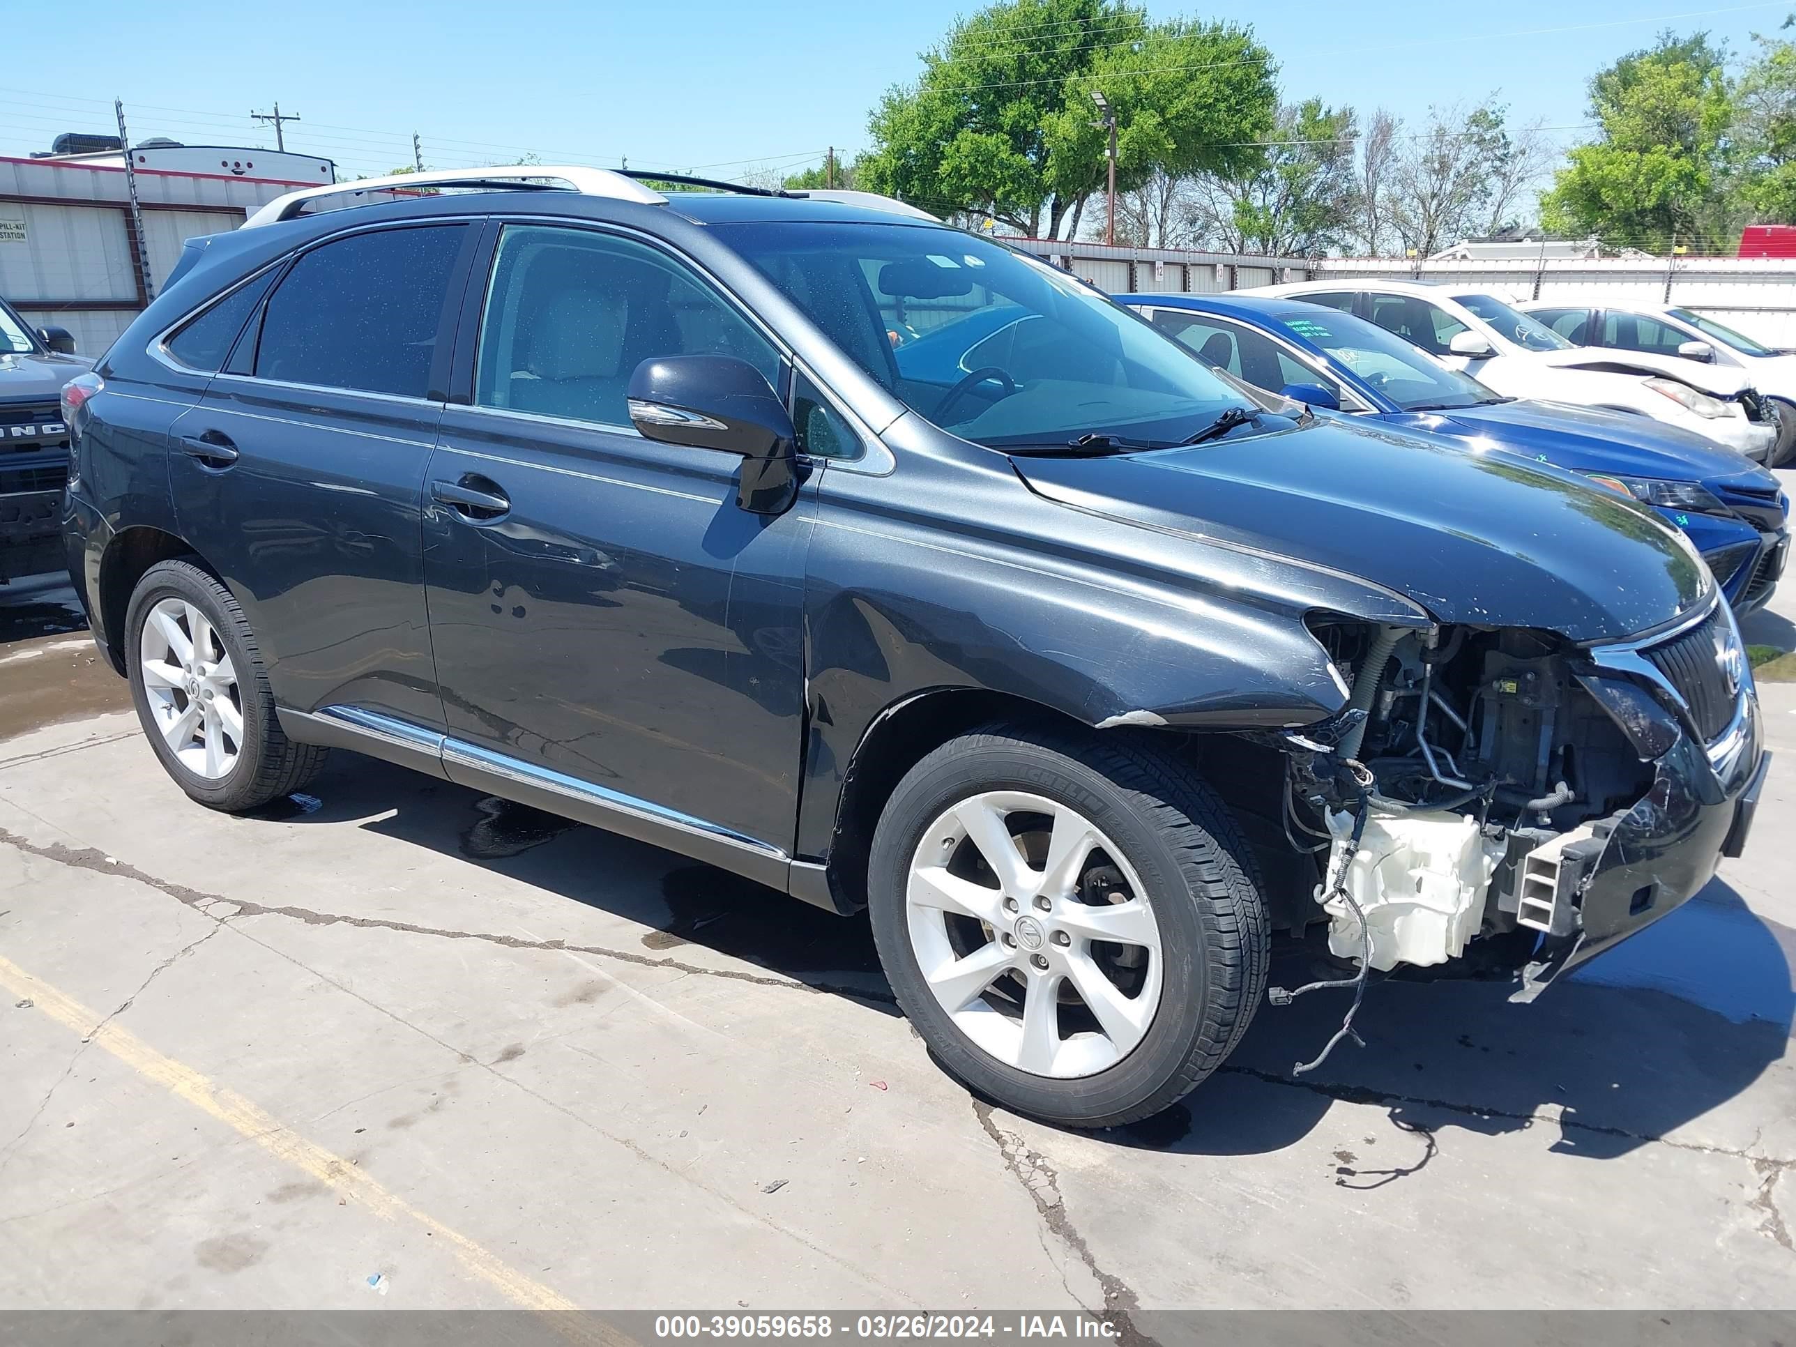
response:
<path fill-rule="evenodd" d="M 1331 814 L 1329 832 L 1334 835 L 1333 882 L 1352 835 L 1352 814 Z M 1365 914 L 1370 966 L 1379 972 L 1399 963 L 1426 968 L 1464 954 L 1466 941 L 1478 934 L 1503 851 L 1501 842 L 1483 837 L 1469 814 L 1370 815 L 1343 885 Z M 1329 950 L 1345 959 L 1365 957 L 1360 920 L 1331 893 L 1331 884 L 1316 889 L 1316 902 L 1329 914 Z"/>

